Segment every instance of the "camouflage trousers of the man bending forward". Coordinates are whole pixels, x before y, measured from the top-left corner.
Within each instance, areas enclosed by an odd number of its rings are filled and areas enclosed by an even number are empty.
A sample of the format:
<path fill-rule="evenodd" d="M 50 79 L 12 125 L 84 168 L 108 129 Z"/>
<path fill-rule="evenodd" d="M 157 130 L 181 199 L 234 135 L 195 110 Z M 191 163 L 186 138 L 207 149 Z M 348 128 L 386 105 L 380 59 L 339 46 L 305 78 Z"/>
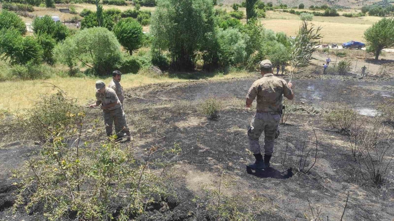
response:
<path fill-rule="evenodd" d="M 112 124 L 115 123 L 115 133 L 119 136 L 121 133 L 129 131 L 126 122 L 126 115 L 122 107 L 115 110 L 103 110 L 105 131 L 107 136 L 112 135 Z M 122 134 L 123 135 L 123 134 Z"/>

